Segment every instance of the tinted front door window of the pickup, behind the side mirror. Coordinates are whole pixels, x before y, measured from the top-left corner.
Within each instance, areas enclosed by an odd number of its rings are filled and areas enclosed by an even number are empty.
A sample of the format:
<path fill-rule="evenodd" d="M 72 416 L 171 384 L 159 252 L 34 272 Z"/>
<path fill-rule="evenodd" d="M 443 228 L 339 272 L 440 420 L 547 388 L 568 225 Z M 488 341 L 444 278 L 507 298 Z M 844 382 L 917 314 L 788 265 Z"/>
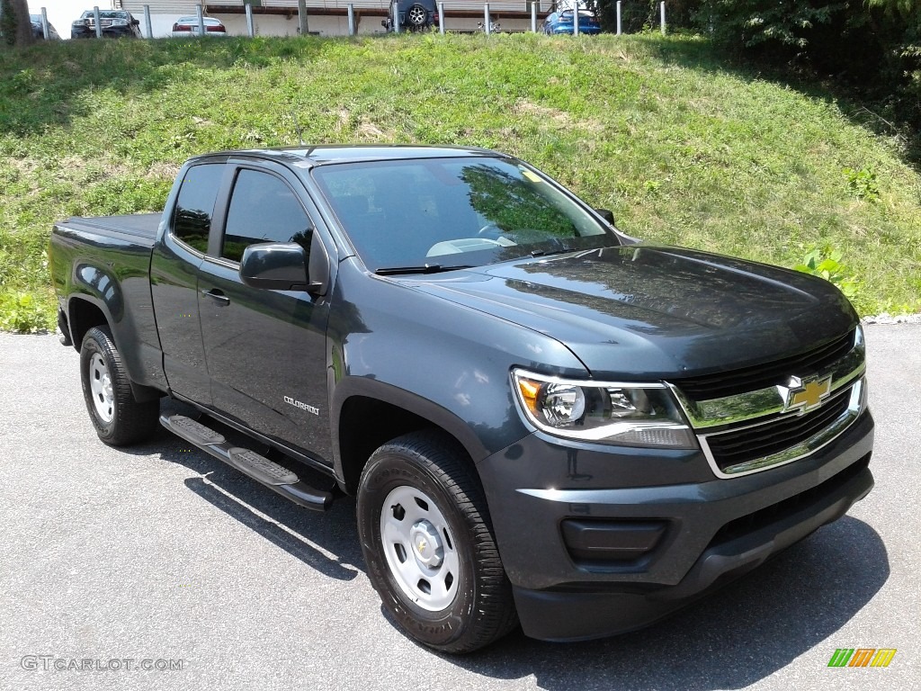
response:
<path fill-rule="evenodd" d="M 240 170 L 230 196 L 221 256 L 239 262 L 257 242 L 297 242 L 310 252 L 313 224 L 291 188 L 274 175 Z"/>

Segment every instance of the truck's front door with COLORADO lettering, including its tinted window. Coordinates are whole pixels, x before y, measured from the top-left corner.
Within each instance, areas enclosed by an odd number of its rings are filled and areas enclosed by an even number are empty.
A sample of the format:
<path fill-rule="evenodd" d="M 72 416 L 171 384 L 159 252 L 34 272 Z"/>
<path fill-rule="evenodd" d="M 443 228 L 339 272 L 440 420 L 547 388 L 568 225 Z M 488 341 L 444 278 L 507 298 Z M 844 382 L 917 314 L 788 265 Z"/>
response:
<path fill-rule="evenodd" d="M 298 242 L 314 219 L 297 177 L 270 163 L 234 165 L 223 232 L 212 233 L 198 302 L 214 407 L 223 415 L 332 465 L 327 405 L 329 302 L 306 291 L 265 290 L 239 278 L 257 242 Z"/>

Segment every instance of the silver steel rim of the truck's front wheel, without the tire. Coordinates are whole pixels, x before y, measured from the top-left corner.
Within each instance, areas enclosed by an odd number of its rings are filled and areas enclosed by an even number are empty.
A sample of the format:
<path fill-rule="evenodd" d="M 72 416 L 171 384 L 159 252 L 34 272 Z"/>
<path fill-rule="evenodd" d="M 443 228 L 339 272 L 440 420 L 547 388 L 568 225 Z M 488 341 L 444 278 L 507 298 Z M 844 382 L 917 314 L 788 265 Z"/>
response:
<path fill-rule="evenodd" d="M 461 560 L 448 521 L 425 492 L 391 490 L 380 509 L 380 541 L 393 579 L 412 602 L 429 612 L 454 602 Z"/>

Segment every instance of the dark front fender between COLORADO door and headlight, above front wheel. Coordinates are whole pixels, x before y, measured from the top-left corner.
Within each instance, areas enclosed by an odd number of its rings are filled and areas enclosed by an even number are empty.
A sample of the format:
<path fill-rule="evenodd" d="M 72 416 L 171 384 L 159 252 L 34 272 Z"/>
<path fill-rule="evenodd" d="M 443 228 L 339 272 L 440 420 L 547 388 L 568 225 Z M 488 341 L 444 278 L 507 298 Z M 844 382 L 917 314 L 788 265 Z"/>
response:
<path fill-rule="evenodd" d="M 333 430 L 345 402 L 363 395 L 444 428 L 479 462 L 532 431 L 514 401 L 512 368 L 588 374 L 546 334 L 354 268 L 342 264 L 330 312 Z"/>

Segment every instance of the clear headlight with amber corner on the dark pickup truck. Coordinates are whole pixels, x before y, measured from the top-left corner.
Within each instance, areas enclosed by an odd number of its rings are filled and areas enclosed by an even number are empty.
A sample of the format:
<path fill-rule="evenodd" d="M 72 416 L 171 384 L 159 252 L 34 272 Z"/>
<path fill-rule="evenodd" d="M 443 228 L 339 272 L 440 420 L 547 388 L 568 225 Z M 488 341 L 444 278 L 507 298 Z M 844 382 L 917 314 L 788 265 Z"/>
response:
<path fill-rule="evenodd" d="M 571 381 L 514 369 L 512 387 L 530 423 L 557 437 L 697 448 L 691 428 L 662 383 Z"/>

